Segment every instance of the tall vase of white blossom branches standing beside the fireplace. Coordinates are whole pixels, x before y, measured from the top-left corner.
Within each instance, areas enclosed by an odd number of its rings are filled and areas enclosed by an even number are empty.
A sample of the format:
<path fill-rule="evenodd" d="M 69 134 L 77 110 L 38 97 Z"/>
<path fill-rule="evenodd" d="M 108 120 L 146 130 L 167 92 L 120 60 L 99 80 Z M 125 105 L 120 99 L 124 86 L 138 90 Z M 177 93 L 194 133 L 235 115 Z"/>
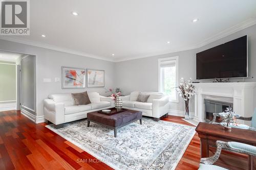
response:
<path fill-rule="evenodd" d="M 192 84 L 191 78 L 188 80 L 188 83 L 183 78 L 180 79 L 180 82 L 176 90 L 185 102 L 185 119 L 189 119 L 189 100 L 195 94 L 195 86 Z"/>

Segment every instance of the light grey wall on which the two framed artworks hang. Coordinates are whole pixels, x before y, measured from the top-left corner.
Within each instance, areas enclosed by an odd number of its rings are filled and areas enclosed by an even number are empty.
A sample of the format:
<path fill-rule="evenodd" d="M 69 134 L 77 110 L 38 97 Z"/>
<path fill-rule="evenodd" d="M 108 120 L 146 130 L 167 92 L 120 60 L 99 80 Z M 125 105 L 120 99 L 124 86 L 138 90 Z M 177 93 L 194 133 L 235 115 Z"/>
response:
<path fill-rule="evenodd" d="M 61 66 L 103 69 L 105 70 L 105 87 L 110 88 L 114 87 L 115 85 L 115 63 L 113 62 L 62 53 L 46 48 L 6 41 L 2 39 L 0 39 L 0 50 L 36 55 L 37 116 L 44 115 L 43 100 L 52 93 L 71 93 L 93 90 L 98 91 L 102 95 L 106 95 L 103 88 L 61 89 L 61 81 L 54 82 L 55 78 L 60 78 L 61 80 Z M 44 83 L 44 78 L 50 78 L 52 82 Z"/>

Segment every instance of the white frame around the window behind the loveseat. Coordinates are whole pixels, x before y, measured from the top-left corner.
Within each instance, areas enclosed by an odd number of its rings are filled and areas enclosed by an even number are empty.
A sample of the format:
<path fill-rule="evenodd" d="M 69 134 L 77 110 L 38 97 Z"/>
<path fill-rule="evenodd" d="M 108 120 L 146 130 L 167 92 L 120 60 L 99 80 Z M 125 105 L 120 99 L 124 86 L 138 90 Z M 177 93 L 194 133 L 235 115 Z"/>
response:
<path fill-rule="evenodd" d="M 179 56 L 174 56 L 174 57 L 167 57 L 167 58 L 159 58 L 158 59 L 158 91 L 161 91 L 161 85 L 163 83 L 162 75 L 161 75 L 161 63 L 166 62 L 166 61 L 175 61 L 176 63 L 176 86 L 179 84 Z M 179 103 L 179 94 L 176 92 L 176 100 L 171 100 L 169 99 L 169 102 L 175 102 Z"/>

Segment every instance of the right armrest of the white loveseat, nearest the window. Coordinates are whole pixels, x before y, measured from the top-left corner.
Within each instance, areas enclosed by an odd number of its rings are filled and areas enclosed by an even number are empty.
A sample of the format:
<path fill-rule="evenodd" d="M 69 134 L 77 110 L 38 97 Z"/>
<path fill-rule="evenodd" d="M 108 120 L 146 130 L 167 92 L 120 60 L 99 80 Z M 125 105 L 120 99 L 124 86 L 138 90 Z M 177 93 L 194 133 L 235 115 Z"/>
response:
<path fill-rule="evenodd" d="M 161 99 L 153 99 L 152 117 L 159 118 L 169 112 L 169 96 Z"/>

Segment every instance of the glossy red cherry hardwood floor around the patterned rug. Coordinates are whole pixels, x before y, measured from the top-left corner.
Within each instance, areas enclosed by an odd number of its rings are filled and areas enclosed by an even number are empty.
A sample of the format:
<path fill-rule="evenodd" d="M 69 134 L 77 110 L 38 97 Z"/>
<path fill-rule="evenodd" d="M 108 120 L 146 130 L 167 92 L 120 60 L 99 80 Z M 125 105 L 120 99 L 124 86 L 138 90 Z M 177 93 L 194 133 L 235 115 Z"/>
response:
<path fill-rule="evenodd" d="M 177 116 L 162 120 L 190 125 Z M 113 169 L 45 125 L 34 124 L 16 110 L 0 112 L 0 169 Z M 213 154 L 215 149 L 210 151 Z M 196 134 L 176 169 L 198 169 L 199 161 L 200 139 Z M 217 164 L 246 169 L 247 156 L 222 152 Z"/>

